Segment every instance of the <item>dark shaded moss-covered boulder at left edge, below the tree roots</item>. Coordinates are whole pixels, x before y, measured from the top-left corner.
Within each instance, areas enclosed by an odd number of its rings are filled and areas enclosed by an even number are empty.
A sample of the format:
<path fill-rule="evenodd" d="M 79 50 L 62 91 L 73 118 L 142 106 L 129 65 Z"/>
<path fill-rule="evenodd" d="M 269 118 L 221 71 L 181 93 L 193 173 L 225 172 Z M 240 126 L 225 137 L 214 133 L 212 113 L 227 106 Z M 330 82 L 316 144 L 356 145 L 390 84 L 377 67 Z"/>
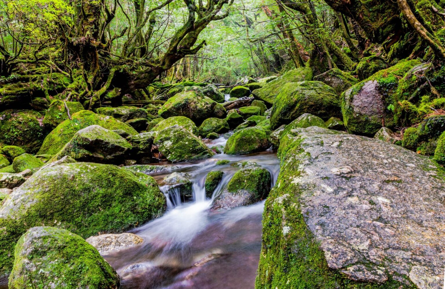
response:
<path fill-rule="evenodd" d="M 0 144 L 18 145 L 27 153 L 36 153 L 46 135 L 43 115 L 33 110 L 0 112 Z"/>

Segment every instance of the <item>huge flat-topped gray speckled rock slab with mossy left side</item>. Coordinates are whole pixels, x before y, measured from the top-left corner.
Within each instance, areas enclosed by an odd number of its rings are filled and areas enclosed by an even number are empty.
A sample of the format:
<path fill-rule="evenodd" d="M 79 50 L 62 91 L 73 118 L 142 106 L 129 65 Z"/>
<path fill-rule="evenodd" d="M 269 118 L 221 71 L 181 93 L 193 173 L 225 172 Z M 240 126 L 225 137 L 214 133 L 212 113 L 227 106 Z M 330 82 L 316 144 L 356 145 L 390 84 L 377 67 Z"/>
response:
<path fill-rule="evenodd" d="M 307 288 L 354 281 L 379 282 L 378 288 L 443 286 L 445 181 L 428 158 L 317 127 L 283 136 L 279 157 L 263 215 L 257 286 L 286 284 L 301 274 Z M 309 263 L 310 256 L 326 262 Z M 289 263 L 272 265 L 281 258 Z M 283 267 L 289 273 L 281 273 Z"/>

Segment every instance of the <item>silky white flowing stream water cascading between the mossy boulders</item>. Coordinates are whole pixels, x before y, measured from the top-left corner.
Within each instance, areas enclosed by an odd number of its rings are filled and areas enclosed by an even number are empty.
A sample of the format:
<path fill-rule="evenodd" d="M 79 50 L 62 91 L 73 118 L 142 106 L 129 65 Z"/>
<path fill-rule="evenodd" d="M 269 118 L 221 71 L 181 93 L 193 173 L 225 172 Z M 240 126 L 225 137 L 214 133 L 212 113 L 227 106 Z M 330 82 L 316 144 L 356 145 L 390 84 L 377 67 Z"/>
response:
<path fill-rule="evenodd" d="M 225 145 L 225 141 L 220 137 L 207 145 Z M 216 165 L 218 160 L 231 163 Z M 211 199 L 205 196 L 207 173 L 216 169 L 224 172 L 215 196 L 239 169 L 231 166 L 236 161 L 255 161 L 262 165 L 271 173 L 271 185 L 275 184 L 279 162 L 271 151 L 243 156 L 218 154 L 211 159 L 175 164 L 174 170 L 153 176 L 161 183 L 162 178 L 173 171 L 190 174 L 193 198 L 182 200 L 177 191 L 161 186 L 169 197 L 167 212 L 130 231 L 144 242 L 103 255 L 119 273 L 122 289 L 254 287 L 264 201 L 230 211 L 212 212 Z"/>

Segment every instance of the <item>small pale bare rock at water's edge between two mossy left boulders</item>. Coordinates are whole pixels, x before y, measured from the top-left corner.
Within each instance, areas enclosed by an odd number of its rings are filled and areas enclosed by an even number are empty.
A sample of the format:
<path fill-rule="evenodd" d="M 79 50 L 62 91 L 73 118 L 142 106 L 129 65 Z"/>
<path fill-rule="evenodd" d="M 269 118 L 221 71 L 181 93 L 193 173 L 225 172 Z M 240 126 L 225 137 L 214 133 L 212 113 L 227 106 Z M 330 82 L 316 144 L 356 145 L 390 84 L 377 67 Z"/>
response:
<path fill-rule="evenodd" d="M 119 251 L 131 246 L 141 244 L 144 239 L 132 233 L 121 234 L 102 234 L 92 236 L 86 239 L 90 245 L 99 251 L 99 253 L 107 253 L 110 251 Z"/>

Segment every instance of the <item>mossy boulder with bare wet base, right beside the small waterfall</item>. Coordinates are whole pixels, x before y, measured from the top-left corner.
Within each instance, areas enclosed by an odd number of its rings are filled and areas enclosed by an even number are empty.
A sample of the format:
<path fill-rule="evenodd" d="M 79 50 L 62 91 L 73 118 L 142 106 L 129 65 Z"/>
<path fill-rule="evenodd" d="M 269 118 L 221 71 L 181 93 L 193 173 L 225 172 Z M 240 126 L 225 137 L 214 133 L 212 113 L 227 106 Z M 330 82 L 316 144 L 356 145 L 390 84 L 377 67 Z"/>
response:
<path fill-rule="evenodd" d="M 265 197 L 271 189 L 271 174 L 267 169 L 245 162 L 231 178 L 223 191 L 214 199 L 213 210 L 230 210 L 254 204 Z"/>

